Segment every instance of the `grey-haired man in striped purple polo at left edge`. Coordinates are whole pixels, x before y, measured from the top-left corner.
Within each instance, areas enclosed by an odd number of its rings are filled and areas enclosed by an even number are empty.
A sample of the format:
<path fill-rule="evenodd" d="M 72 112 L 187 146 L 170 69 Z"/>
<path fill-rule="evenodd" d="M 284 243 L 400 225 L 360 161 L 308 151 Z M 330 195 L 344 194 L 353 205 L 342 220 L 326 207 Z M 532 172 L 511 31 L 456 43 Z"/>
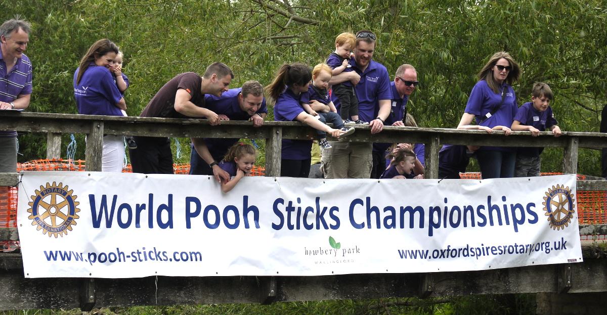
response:
<path fill-rule="evenodd" d="M 26 109 L 32 94 L 32 64 L 24 55 L 31 25 L 10 19 L 0 26 L 0 110 Z M 17 171 L 17 132 L 0 130 L 0 173 Z"/>

